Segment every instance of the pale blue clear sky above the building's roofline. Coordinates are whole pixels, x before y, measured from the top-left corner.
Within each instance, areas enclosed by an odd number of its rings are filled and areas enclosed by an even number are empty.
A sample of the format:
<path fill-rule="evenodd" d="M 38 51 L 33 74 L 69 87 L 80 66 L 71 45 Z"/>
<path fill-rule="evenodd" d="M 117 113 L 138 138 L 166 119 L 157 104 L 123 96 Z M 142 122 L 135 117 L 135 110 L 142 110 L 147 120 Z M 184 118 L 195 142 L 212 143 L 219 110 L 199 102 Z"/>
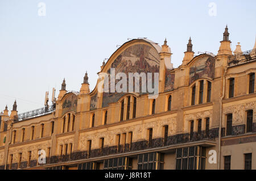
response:
<path fill-rule="evenodd" d="M 42 5 L 43 4 L 43 5 Z M 256 1 L 0 0 L 0 111 L 14 100 L 18 113 L 44 107 L 65 78 L 79 91 L 85 71 L 90 90 L 117 45 L 147 37 L 167 39 L 171 61 L 183 60 L 189 36 L 193 51 L 217 54 L 226 24 L 232 49 L 253 49 Z"/>

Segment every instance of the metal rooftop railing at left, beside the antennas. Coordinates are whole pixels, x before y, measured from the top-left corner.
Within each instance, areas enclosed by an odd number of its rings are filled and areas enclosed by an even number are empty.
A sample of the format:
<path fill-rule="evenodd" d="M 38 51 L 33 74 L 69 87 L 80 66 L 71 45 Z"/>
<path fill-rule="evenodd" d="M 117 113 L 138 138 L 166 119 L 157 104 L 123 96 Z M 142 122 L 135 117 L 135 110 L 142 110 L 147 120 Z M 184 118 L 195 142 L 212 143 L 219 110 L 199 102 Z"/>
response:
<path fill-rule="evenodd" d="M 42 116 L 42 115 L 46 115 L 48 113 L 51 113 L 53 111 L 55 111 L 55 104 L 52 104 L 51 106 L 45 106 L 36 110 L 32 110 L 32 111 L 28 111 L 28 112 L 24 112 L 24 113 L 20 113 L 18 114 L 18 116 L 14 117 L 14 121 L 23 121 L 23 120 L 27 120 L 30 119 L 32 117 L 38 117 L 38 116 Z"/>

